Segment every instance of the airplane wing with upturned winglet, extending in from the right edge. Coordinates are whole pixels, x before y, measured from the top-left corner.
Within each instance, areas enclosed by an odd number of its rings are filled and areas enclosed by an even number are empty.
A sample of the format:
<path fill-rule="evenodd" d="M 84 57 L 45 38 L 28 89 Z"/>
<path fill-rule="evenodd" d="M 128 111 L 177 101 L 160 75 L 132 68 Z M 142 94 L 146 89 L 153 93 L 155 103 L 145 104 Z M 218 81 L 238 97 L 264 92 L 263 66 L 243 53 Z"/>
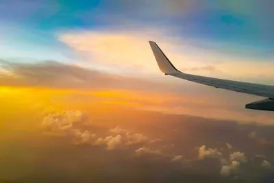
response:
<path fill-rule="evenodd" d="M 256 101 L 248 103 L 245 107 L 255 110 L 271 110 L 274 111 L 274 86 L 264 84 L 252 84 L 247 82 L 236 82 L 232 80 L 223 80 L 213 77 L 204 77 L 200 75 L 191 75 L 178 71 L 175 66 L 171 63 L 169 58 L 166 57 L 164 52 L 158 47 L 158 45 L 149 41 L 155 60 L 158 63 L 159 69 L 165 75 L 171 75 L 173 77 L 179 77 L 183 80 L 190 82 L 196 82 L 199 84 L 205 84 L 213 86 L 215 88 L 222 88 L 225 90 L 232 90 L 239 93 L 247 93 L 250 95 L 256 95 L 260 97 L 267 97 L 268 99 L 262 101 Z"/>

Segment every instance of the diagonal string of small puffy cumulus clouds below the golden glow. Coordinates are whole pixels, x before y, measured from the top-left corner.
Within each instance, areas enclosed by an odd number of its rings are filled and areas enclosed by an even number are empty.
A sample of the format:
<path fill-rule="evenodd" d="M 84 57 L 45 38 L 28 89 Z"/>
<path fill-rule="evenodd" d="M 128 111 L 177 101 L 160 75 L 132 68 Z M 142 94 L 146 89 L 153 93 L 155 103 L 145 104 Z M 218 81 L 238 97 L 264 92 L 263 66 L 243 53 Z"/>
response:
<path fill-rule="evenodd" d="M 82 130 L 75 127 L 77 123 L 84 123 L 83 117 L 84 114 L 79 111 L 64 111 L 48 114 L 42 122 L 42 125 L 49 126 L 51 132 L 56 133 L 59 130 L 66 136 L 71 137 L 71 143 L 75 145 L 86 144 L 90 145 L 90 147 L 104 147 L 105 151 L 127 151 L 127 156 L 132 158 L 149 158 L 149 160 L 162 159 L 164 161 L 169 159 L 169 162 L 180 163 L 182 167 L 187 164 L 194 166 L 195 163 L 204 164 L 203 166 L 213 166 L 213 164 L 215 164 L 214 166 L 216 167 L 212 168 L 212 171 L 219 171 L 221 176 L 229 178 L 238 178 L 238 176 L 244 175 L 242 173 L 245 172 L 245 169 L 249 166 L 255 165 L 256 169 L 260 169 L 260 167 L 266 170 L 271 169 L 271 163 L 268 160 L 256 161 L 255 164 L 254 162 L 251 164 L 245 153 L 237 151 L 237 146 L 234 147 L 224 142 L 221 148 L 206 148 L 206 145 L 202 145 L 199 148 L 188 149 L 188 151 L 197 152 L 197 156 L 193 156 L 194 154 L 189 156 L 186 152 L 186 154 L 176 155 L 176 152 L 171 151 L 171 149 L 178 149 L 179 147 L 175 145 L 169 147 L 166 140 L 156 141 L 160 136 L 149 138 L 145 134 L 131 132 L 120 126 L 110 129 L 105 128 L 105 130 L 103 130 L 104 136 L 100 135 L 100 137 L 95 134 L 96 132 L 92 132 L 92 130 L 83 129 L 83 125 L 77 126 L 81 127 Z M 89 123 L 89 125 L 92 125 L 92 123 Z M 246 136 L 246 139 L 248 140 L 249 136 Z M 171 149 L 166 149 L 166 147 Z M 184 157 L 184 155 L 186 155 L 186 157 Z M 249 156 L 266 158 L 265 156 L 251 155 L 250 153 Z M 204 168 L 206 169 L 206 167 Z"/>

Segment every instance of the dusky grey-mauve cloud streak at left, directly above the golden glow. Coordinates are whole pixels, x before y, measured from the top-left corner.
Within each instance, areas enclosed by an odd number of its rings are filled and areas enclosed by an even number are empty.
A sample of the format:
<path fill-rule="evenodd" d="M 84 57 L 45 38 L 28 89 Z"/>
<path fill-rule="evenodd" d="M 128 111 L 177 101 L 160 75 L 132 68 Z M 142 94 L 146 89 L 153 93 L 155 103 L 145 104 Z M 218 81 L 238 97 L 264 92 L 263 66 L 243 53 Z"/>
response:
<path fill-rule="evenodd" d="M 37 64 L 0 62 L 6 73 L 0 75 L 2 86 L 43 86 L 50 88 L 116 88 L 138 79 L 111 75 L 98 70 L 84 69 L 73 64 L 41 61 Z M 8 72 L 8 73 L 7 73 Z M 127 85 L 129 86 L 129 85 Z M 121 88 L 123 86 L 120 86 Z"/>

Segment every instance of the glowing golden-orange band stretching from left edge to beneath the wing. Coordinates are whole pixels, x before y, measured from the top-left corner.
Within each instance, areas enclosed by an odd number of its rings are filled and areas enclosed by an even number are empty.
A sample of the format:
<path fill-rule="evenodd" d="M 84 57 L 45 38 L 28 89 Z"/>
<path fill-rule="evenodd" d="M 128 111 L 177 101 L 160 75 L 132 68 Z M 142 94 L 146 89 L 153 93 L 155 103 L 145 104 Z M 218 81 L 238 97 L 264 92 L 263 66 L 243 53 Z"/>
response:
<path fill-rule="evenodd" d="M 153 90 L 130 89 L 50 89 L 1 87 L 1 125 L 28 129 L 36 128 L 45 114 L 62 110 L 80 110 L 97 119 L 120 114 L 124 110 L 143 110 L 167 114 L 188 114 L 214 119 L 262 121 L 271 123 L 268 115 L 248 115 L 250 111 L 234 109 L 218 99 L 179 95 Z M 205 95 L 206 96 L 206 95 Z M 125 112 L 123 115 L 131 115 Z M 31 120 L 30 120 L 31 119 Z M 10 122 L 12 121 L 12 122 Z M 24 121 L 24 122 L 22 122 Z"/>

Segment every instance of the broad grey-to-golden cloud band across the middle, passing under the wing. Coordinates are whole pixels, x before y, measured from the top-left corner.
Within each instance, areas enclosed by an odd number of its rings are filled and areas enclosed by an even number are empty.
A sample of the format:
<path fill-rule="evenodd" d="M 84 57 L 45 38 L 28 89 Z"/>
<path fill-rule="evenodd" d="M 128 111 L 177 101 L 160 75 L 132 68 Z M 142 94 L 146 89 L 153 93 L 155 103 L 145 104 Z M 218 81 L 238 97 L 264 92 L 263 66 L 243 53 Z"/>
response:
<path fill-rule="evenodd" d="M 258 97 L 216 90 L 164 75 L 161 76 L 166 82 L 157 77 L 116 75 L 58 62 L 5 64 L 9 74 L 2 74 L 0 79 L 1 100 L 6 103 L 1 109 L 3 114 L 8 114 L 10 108 L 19 111 L 38 109 L 35 116 L 55 110 L 92 108 L 99 114 L 103 110 L 113 112 L 116 108 L 131 108 L 272 123 L 270 113 L 244 108 L 245 103 L 256 101 Z"/>

